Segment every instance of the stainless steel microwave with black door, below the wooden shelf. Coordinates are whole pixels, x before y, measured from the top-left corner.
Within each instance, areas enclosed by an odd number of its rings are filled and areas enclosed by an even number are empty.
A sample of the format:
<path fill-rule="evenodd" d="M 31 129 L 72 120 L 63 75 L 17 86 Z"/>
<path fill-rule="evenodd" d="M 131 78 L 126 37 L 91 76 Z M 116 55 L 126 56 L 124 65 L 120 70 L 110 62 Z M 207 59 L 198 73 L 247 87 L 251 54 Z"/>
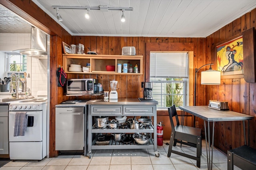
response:
<path fill-rule="evenodd" d="M 98 79 L 68 79 L 66 95 L 81 96 L 94 93 L 94 84 L 98 84 Z"/>

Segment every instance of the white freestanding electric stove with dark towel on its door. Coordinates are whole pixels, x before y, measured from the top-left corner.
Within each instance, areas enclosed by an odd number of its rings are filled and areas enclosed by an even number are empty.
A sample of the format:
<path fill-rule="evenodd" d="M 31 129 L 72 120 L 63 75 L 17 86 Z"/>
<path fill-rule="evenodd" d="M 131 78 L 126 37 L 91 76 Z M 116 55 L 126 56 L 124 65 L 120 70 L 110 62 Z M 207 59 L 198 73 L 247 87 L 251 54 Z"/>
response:
<path fill-rule="evenodd" d="M 26 112 L 24 136 L 15 136 L 16 113 Z M 15 125 L 16 123 L 16 125 Z M 46 156 L 47 99 L 32 98 L 9 105 L 9 150 L 11 160 L 42 160 Z"/>

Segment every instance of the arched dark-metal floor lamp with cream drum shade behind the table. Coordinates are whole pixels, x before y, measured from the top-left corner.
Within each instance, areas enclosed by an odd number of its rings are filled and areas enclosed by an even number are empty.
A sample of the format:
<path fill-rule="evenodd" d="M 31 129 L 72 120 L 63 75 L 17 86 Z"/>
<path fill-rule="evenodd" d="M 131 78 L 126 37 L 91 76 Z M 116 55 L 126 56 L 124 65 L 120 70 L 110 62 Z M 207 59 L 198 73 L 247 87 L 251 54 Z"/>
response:
<path fill-rule="evenodd" d="M 195 72 L 195 86 L 194 86 L 194 106 L 196 106 L 196 80 L 197 80 L 197 72 L 204 66 L 210 65 L 209 70 L 201 72 L 201 84 L 208 84 L 208 85 L 216 85 L 220 84 L 220 71 L 212 70 L 212 64 L 205 64 L 200 68 L 196 68 Z"/>

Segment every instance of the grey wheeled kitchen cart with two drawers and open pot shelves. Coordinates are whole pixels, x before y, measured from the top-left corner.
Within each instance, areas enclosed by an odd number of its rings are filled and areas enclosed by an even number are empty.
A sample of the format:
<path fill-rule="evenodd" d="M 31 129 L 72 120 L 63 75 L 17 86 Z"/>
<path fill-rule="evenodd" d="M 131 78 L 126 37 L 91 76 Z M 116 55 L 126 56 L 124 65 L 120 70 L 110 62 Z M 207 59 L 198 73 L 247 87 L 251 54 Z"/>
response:
<path fill-rule="evenodd" d="M 88 105 L 88 156 L 91 158 L 94 149 L 154 149 L 156 157 L 159 157 L 156 143 L 156 105 L 158 102 L 140 102 L 138 98 L 124 98 L 115 101 L 90 100 Z M 153 124 L 141 129 L 99 129 L 95 127 L 96 116 L 148 116 L 154 119 Z M 97 135 L 102 133 L 149 133 L 151 139 L 144 145 L 130 143 L 126 145 L 121 141 L 110 139 L 108 145 L 96 145 Z"/>

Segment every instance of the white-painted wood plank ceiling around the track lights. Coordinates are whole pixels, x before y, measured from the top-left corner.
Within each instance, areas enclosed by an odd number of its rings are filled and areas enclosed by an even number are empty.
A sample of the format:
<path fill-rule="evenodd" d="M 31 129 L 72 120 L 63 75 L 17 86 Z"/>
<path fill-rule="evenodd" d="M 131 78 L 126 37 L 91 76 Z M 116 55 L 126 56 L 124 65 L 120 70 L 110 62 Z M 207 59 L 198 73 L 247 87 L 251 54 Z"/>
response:
<path fill-rule="evenodd" d="M 207 37 L 256 7 L 255 0 L 32 0 L 71 35 L 136 37 Z M 128 8 L 121 10 L 60 9 L 52 6 Z M 0 29 L 1 30 L 1 29 Z"/>

